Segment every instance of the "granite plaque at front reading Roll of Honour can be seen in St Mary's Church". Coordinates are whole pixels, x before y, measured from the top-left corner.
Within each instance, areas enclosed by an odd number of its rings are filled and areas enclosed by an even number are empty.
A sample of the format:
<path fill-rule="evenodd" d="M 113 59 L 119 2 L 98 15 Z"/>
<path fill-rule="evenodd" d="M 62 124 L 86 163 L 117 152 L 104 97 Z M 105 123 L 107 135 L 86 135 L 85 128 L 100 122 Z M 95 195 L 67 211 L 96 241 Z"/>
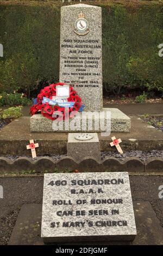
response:
<path fill-rule="evenodd" d="M 44 242 L 127 241 L 135 235 L 127 172 L 44 175 Z"/>

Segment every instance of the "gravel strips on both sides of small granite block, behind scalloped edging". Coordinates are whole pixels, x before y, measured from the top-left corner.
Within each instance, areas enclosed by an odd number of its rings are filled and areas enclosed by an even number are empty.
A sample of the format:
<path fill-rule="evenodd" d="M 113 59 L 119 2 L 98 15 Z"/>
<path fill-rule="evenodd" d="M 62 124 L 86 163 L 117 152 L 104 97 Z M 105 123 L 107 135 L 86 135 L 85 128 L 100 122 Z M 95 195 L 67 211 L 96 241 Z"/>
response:
<path fill-rule="evenodd" d="M 64 157 L 66 155 L 53 155 L 53 156 L 48 156 L 53 160 L 59 160 L 62 159 L 62 157 Z M 10 160 L 16 160 L 18 159 L 20 156 L 11 156 L 11 155 L 7 155 L 5 156 Z M 35 159 L 32 159 L 32 157 L 30 156 L 22 156 L 22 157 L 27 157 L 28 159 L 32 160 L 32 161 L 36 161 L 41 159 L 43 156 L 37 156 L 35 157 Z M 131 150 L 131 151 L 127 151 L 125 152 L 123 155 L 121 155 L 120 153 L 117 152 L 112 152 L 112 151 L 104 151 L 101 152 L 101 159 L 104 160 L 105 157 L 116 157 L 117 159 L 120 160 L 125 160 L 126 157 L 137 157 L 139 158 L 141 161 L 146 161 L 147 159 L 149 159 L 150 157 L 162 157 L 163 159 L 163 150 L 151 150 L 151 151 L 141 151 L 141 150 Z"/>

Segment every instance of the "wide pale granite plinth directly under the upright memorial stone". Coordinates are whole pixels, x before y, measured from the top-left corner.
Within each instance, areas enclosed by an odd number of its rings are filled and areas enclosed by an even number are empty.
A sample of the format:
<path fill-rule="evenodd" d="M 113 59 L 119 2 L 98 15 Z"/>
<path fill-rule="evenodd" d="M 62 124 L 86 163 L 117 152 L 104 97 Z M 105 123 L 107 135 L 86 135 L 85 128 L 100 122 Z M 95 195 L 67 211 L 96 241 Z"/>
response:
<path fill-rule="evenodd" d="M 92 127 L 89 121 L 92 118 Z M 111 123 L 110 123 L 111 119 Z M 130 132 L 131 119 L 117 108 L 103 108 L 101 112 L 78 112 L 78 116 L 63 122 L 58 130 L 52 127 L 53 121 L 35 114 L 30 118 L 31 132 Z M 103 124 L 103 125 L 102 125 Z"/>

